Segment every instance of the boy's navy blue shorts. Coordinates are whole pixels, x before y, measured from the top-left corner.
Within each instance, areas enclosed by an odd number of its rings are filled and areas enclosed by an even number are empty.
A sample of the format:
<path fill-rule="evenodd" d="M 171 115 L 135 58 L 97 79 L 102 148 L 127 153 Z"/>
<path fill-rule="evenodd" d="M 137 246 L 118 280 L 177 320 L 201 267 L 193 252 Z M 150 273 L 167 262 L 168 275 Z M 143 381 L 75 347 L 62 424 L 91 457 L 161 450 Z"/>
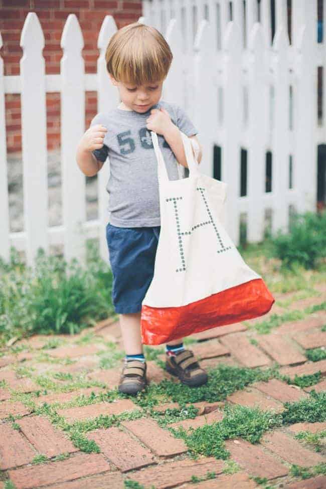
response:
<path fill-rule="evenodd" d="M 120 314 L 139 312 L 154 274 L 160 226 L 118 228 L 108 223 L 106 240 L 113 275 L 112 303 Z"/>

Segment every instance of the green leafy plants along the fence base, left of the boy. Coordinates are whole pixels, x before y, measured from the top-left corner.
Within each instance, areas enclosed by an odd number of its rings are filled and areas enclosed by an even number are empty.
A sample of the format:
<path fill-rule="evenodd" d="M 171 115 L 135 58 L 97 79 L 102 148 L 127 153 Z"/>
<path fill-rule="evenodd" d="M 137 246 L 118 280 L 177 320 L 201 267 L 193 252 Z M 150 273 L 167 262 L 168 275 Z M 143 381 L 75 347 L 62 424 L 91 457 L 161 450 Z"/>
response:
<path fill-rule="evenodd" d="M 87 267 L 46 256 L 39 249 L 35 267 L 12 248 L 9 263 L 0 259 L 0 335 L 78 333 L 112 314 L 112 273 L 92 244 Z M 50 346 L 51 348 L 51 346 Z"/>

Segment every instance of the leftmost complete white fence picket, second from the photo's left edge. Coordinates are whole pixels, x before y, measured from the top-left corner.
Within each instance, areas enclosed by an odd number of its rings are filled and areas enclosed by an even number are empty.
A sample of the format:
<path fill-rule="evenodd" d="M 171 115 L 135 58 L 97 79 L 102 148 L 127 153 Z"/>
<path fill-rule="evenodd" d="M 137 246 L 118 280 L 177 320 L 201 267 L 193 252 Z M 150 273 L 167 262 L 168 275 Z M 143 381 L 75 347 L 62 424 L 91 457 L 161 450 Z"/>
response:
<path fill-rule="evenodd" d="M 40 21 L 29 12 L 20 45 L 22 156 L 26 261 L 32 265 L 39 247 L 48 251 L 48 172 L 44 36 Z"/>

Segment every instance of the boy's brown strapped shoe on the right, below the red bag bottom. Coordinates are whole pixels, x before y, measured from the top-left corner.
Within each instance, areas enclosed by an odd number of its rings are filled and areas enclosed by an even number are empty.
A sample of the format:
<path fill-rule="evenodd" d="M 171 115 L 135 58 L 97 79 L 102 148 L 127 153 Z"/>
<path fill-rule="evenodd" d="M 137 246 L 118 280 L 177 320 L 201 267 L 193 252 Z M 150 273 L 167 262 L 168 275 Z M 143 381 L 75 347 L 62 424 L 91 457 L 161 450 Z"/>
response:
<path fill-rule="evenodd" d="M 166 356 L 166 370 L 179 377 L 183 384 L 198 387 L 208 381 L 207 372 L 200 365 L 191 350 L 183 350 L 176 355 Z"/>

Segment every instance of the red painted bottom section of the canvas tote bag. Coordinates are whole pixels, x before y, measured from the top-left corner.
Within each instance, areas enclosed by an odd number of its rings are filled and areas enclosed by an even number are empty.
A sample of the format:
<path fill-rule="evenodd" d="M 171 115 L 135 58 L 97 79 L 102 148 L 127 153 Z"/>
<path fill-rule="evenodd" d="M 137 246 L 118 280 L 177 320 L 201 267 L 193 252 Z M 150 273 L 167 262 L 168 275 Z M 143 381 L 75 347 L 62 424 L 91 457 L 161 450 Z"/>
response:
<path fill-rule="evenodd" d="M 160 345 L 266 314 L 275 302 L 261 278 L 181 307 L 141 308 L 141 341 Z"/>

